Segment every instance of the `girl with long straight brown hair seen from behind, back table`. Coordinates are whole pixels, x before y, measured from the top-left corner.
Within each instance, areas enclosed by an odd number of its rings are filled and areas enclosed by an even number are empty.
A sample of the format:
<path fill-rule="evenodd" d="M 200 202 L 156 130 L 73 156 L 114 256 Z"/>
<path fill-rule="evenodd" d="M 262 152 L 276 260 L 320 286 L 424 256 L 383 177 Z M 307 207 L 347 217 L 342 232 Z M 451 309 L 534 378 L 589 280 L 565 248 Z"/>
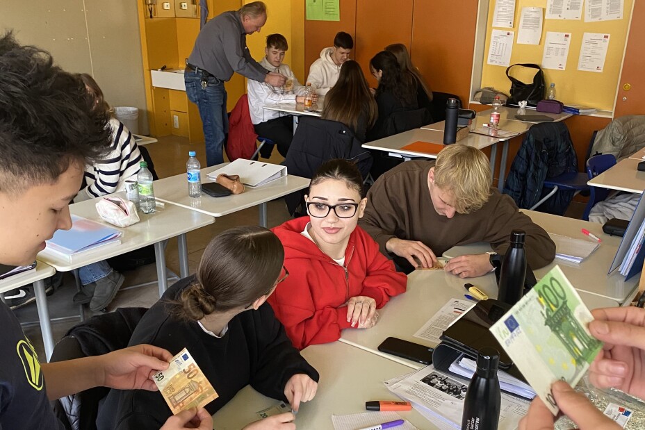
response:
<path fill-rule="evenodd" d="M 334 88 L 325 96 L 322 119 L 342 122 L 354 136 L 365 142 L 365 135 L 376 120 L 377 107 L 359 63 L 347 60 Z"/>

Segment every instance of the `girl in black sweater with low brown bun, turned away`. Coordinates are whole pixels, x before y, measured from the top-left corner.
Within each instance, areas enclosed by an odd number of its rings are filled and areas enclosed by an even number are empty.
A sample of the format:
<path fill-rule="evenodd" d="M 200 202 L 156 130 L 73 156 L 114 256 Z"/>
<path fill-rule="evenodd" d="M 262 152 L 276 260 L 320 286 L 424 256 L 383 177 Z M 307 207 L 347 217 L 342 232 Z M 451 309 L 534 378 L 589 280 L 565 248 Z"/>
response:
<path fill-rule="evenodd" d="M 130 345 L 149 342 L 177 354 L 186 348 L 219 397 L 210 414 L 251 384 L 284 399 L 297 412 L 316 395 L 318 372 L 291 345 L 266 299 L 289 273 L 275 234 L 240 226 L 216 236 L 204 250 L 197 274 L 170 287 L 137 324 Z M 170 416 L 158 392 L 111 390 L 99 429 L 158 429 Z M 267 418 L 289 422 L 292 413 Z M 255 422 L 246 429 L 268 428 Z"/>

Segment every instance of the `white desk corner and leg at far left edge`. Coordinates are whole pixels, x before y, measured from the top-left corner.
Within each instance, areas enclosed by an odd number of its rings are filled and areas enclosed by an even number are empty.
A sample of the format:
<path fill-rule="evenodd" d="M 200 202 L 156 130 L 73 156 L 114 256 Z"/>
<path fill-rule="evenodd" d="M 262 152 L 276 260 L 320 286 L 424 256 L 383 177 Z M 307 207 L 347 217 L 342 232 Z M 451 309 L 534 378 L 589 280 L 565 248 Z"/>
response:
<path fill-rule="evenodd" d="M 49 320 L 49 308 L 47 307 L 47 295 L 44 291 L 44 279 L 54 275 L 56 270 L 48 264 L 38 261 L 32 270 L 9 276 L 0 281 L 0 293 L 13 290 L 33 283 L 33 292 L 38 308 L 38 320 L 40 321 L 40 333 L 42 333 L 42 344 L 47 361 L 54 351 L 54 335 L 51 334 L 51 322 Z"/>

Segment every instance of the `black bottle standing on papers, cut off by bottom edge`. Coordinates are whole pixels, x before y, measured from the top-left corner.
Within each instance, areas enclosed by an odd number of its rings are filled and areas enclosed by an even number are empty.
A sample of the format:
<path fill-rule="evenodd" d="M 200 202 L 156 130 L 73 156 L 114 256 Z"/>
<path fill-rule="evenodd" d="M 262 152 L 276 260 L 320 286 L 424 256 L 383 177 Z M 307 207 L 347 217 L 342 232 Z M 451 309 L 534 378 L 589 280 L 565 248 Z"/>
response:
<path fill-rule="evenodd" d="M 484 347 L 477 353 L 477 371 L 464 399 L 462 430 L 497 430 L 502 402 L 499 363 L 500 354 L 495 348 Z"/>

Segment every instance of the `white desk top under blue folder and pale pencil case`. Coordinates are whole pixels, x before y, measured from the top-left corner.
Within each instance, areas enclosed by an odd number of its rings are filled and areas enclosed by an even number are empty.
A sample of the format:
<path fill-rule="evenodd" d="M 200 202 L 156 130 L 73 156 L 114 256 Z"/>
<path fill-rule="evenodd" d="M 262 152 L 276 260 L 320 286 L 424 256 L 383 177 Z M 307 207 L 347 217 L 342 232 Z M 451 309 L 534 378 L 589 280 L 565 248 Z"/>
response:
<path fill-rule="evenodd" d="M 156 188 L 156 183 L 154 186 Z M 125 197 L 125 192 L 117 192 L 115 195 Z M 100 198 L 102 197 L 98 199 Z M 101 220 L 96 210 L 96 202 L 97 199 L 91 199 L 72 204 L 70 205 L 70 212 L 106 226 L 114 227 L 112 224 Z M 103 261 L 106 258 L 161 242 L 161 240 L 174 238 L 177 235 L 188 233 L 188 231 L 193 231 L 215 222 L 213 217 L 174 205 L 165 205 L 163 208 L 157 206 L 156 212 L 150 214 L 139 212 L 139 218 L 140 221 L 137 224 L 120 229 L 123 231 L 120 245 L 106 245 L 92 251 L 75 254 L 72 255 L 71 260 L 65 256 L 45 255 L 42 253 L 38 254 L 38 259 L 54 266 L 61 272 L 68 272 L 90 263 L 97 263 L 97 261 Z"/>

